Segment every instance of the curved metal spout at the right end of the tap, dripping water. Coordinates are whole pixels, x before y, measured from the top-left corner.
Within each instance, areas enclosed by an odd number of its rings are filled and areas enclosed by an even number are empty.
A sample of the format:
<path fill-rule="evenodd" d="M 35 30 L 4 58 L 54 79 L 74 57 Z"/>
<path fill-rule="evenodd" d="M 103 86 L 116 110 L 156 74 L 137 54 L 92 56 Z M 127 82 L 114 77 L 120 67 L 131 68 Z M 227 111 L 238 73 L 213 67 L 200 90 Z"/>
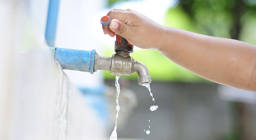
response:
<path fill-rule="evenodd" d="M 145 86 L 145 85 L 151 83 L 149 69 L 144 63 L 135 60 L 134 61 L 134 72 L 136 72 L 138 74 L 139 85 Z"/>

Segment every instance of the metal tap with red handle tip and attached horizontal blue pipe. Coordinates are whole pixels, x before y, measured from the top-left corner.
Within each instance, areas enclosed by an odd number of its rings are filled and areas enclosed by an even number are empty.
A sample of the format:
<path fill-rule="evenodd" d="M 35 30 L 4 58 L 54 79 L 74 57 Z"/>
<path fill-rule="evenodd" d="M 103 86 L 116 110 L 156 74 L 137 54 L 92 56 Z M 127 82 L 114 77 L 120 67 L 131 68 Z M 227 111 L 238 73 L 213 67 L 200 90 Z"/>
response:
<path fill-rule="evenodd" d="M 110 23 L 109 17 L 101 19 L 103 26 Z M 90 72 L 107 70 L 117 76 L 138 74 L 139 85 L 146 86 L 151 82 L 149 70 L 142 62 L 130 57 L 133 52 L 131 45 L 125 38 L 116 35 L 115 51 L 112 57 L 99 56 L 95 50 L 76 50 L 50 47 L 54 60 L 58 61 L 63 69 Z"/>

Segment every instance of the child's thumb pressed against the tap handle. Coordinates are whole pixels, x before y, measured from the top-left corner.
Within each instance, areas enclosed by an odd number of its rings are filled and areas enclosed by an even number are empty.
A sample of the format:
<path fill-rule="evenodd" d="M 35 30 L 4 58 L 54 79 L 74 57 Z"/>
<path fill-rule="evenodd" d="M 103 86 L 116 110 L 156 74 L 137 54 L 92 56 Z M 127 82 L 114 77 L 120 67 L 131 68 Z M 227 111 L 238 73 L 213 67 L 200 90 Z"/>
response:
<path fill-rule="evenodd" d="M 110 24 L 109 24 L 109 29 L 111 31 L 113 31 L 114 33 L 126 38 L 127 35 L 129 34 L 128 31 L 130 28 L 128 25 L 124 24 L 123 22 L 117 20 L 117 19 L 113 19 L 111 20 Z"/>

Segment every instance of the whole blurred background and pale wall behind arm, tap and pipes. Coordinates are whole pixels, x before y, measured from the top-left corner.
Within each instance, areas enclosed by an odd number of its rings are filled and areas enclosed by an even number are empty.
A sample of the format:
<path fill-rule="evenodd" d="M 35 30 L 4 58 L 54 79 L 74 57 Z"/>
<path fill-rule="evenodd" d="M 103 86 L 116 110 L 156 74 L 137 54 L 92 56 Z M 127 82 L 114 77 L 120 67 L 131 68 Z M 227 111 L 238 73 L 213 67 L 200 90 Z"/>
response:
<path fill-rule="evenodd" d="M 44 37 L 48 7 L 48 0 L 0 1 L 0 139 L 108 139 L 115 75 L 58 67 Z M 256 45 L 256 0 L 60 0 L 55 47 L 111 57 L 116 39 L 103 34 L 100 19 L 114 8 Z M 157 50 L 134 47 L 131 57 L 148 67 L 155 102 L 137 74 L 120 77 L 118 139 L 256 139 L 256 93 L 205 80 Z"/>

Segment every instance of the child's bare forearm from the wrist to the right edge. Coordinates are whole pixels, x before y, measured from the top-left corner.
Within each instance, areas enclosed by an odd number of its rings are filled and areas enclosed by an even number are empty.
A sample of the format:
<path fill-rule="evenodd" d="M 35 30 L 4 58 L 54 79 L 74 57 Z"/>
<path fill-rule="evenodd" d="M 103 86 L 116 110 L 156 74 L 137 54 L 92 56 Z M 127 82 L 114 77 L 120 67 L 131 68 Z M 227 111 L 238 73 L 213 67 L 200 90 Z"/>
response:
<path fill-rule="evenodd" d="M 174 63 L 211 81 L 256 91 L 256 46 L 177 28 L 167 28 L 163 38 L 158 50 Z"/>

